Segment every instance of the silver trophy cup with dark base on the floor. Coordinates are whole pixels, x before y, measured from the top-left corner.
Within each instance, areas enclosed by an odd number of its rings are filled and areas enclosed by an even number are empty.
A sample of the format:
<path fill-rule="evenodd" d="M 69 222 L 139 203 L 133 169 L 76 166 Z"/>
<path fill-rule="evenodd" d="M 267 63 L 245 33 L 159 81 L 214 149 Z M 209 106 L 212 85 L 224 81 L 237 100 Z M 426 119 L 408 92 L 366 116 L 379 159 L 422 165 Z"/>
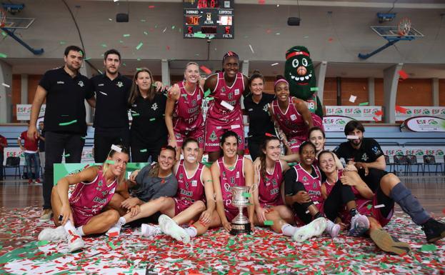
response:
<path fill-rule="evenodd" d="M 249 234 L 251 232 L 249 219 L 243 214 L 244 207 L 250 205 L 249 197 L 246 196 L 246 194 L 250 194 L 251 196 L 251 192 L 253 192 L 253 190 L 251 191 L 251 187 L 249 186 L 233 186 L 231 188 L 231 204 L 239 209 L 238 215 L 231 220 L 230 234 L 232 235 Z"/>

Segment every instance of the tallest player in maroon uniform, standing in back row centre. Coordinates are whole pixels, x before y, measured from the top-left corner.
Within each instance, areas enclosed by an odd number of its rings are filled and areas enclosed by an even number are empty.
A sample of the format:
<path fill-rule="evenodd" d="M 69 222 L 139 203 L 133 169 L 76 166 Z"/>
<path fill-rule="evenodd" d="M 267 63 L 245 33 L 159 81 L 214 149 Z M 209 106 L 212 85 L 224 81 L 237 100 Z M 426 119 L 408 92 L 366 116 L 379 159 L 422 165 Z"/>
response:
<path fill-rule="evenodd" d="M 224 54 L 223 71 L 206 79 L 204 91 L 210 89 L 214 97 L 206 116 L 204 151 L 213 162 L 221 156 L 219 138 L 225 131 L 234 131 L 239 136 L 238 154 L 244 156 L 244 124 L 240 99 L 248 79 L 239 72 L 239 57 L 233 51 Z"/>

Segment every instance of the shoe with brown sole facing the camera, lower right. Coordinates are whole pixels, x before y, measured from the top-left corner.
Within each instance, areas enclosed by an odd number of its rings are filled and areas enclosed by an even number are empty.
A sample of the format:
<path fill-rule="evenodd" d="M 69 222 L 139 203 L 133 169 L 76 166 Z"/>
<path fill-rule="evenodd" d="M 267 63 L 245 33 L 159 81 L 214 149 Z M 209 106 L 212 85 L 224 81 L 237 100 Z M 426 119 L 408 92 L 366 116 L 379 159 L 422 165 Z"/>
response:
<path fill-rule="evenodd" d="M 384 229 L 371 229 L 369 236 L 371 236 L 376 246 L 383 251 L 397 255 L 408 254 L 411 251 L 409 244 L 399 241 Z"/>

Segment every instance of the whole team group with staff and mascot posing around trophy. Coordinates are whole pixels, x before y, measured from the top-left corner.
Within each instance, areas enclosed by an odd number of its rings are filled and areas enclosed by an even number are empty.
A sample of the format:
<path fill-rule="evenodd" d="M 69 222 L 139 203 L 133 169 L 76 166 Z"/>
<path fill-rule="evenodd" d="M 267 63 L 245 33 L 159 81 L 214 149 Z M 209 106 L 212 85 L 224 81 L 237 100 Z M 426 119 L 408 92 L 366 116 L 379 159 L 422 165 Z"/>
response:
<path fill-rule="evenodd" d="M 255 234 L 261 226 L 295 244 L 323 234 L 369 236 L 381 251 L 409 254 L 409 244 L 385 230 L 395 204 L 421 227 L 425 242 L 445 237 L 445 224 L 385 170 L 384 152 L 364 137 L 360 121 L 344 126 L 345 142 L 325 149 L 304 46 L 286 52 L 274 94 L 264 91 L 260 71 L 241 74 L 233 51 L 214 74 L 189 62 L 184 80 L 172 86 L 154 81 L 148 68 L 137 68 L 133 79 L 121 75 L 115 49 L 104 53 L 104 74 L 91 79 L 79 72 L 83 61 L 81 48 L 66 47 L 64 66 L 46 71 L 31 107 L 26 139 L 38 140 L 46 101 L 41 221 L 54 221 L 39 241 L 64 240 L 72 252 L 85 247 L 84 236 L 114 238 L 126 224 L 139 226 L 141 236 L 164 234 L 184 244 L 217 227 Z M 94 161 L 101 165 L 54 182 L 63 156 L 81 162 L 85 104 L 95 110 Z M 127 173 L 130 162 L 148 164 Z"/>

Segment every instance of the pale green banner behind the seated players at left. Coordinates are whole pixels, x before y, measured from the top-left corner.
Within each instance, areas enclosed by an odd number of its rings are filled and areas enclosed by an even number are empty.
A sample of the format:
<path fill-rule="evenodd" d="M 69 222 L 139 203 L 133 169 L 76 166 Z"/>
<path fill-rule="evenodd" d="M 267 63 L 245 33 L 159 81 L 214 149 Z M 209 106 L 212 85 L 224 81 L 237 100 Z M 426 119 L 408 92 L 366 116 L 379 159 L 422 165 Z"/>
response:
<path fill-rule="evenodd" d="M 54 164 L 54 185 L 57 184 L 57 181 L 59 179 L 63 178 L 64 176 L 71 175 L 71 174 L 77 174 L 80 171 L 91 167 L 91 166 L 101 166 L 102 164 Z M 125 179 L 128 179 L 131 172 L 142 169 L 145 166 L 149 165 L 147 162 L 130 162 L 126 164 L 126 170 L 125 170 Z"/>

